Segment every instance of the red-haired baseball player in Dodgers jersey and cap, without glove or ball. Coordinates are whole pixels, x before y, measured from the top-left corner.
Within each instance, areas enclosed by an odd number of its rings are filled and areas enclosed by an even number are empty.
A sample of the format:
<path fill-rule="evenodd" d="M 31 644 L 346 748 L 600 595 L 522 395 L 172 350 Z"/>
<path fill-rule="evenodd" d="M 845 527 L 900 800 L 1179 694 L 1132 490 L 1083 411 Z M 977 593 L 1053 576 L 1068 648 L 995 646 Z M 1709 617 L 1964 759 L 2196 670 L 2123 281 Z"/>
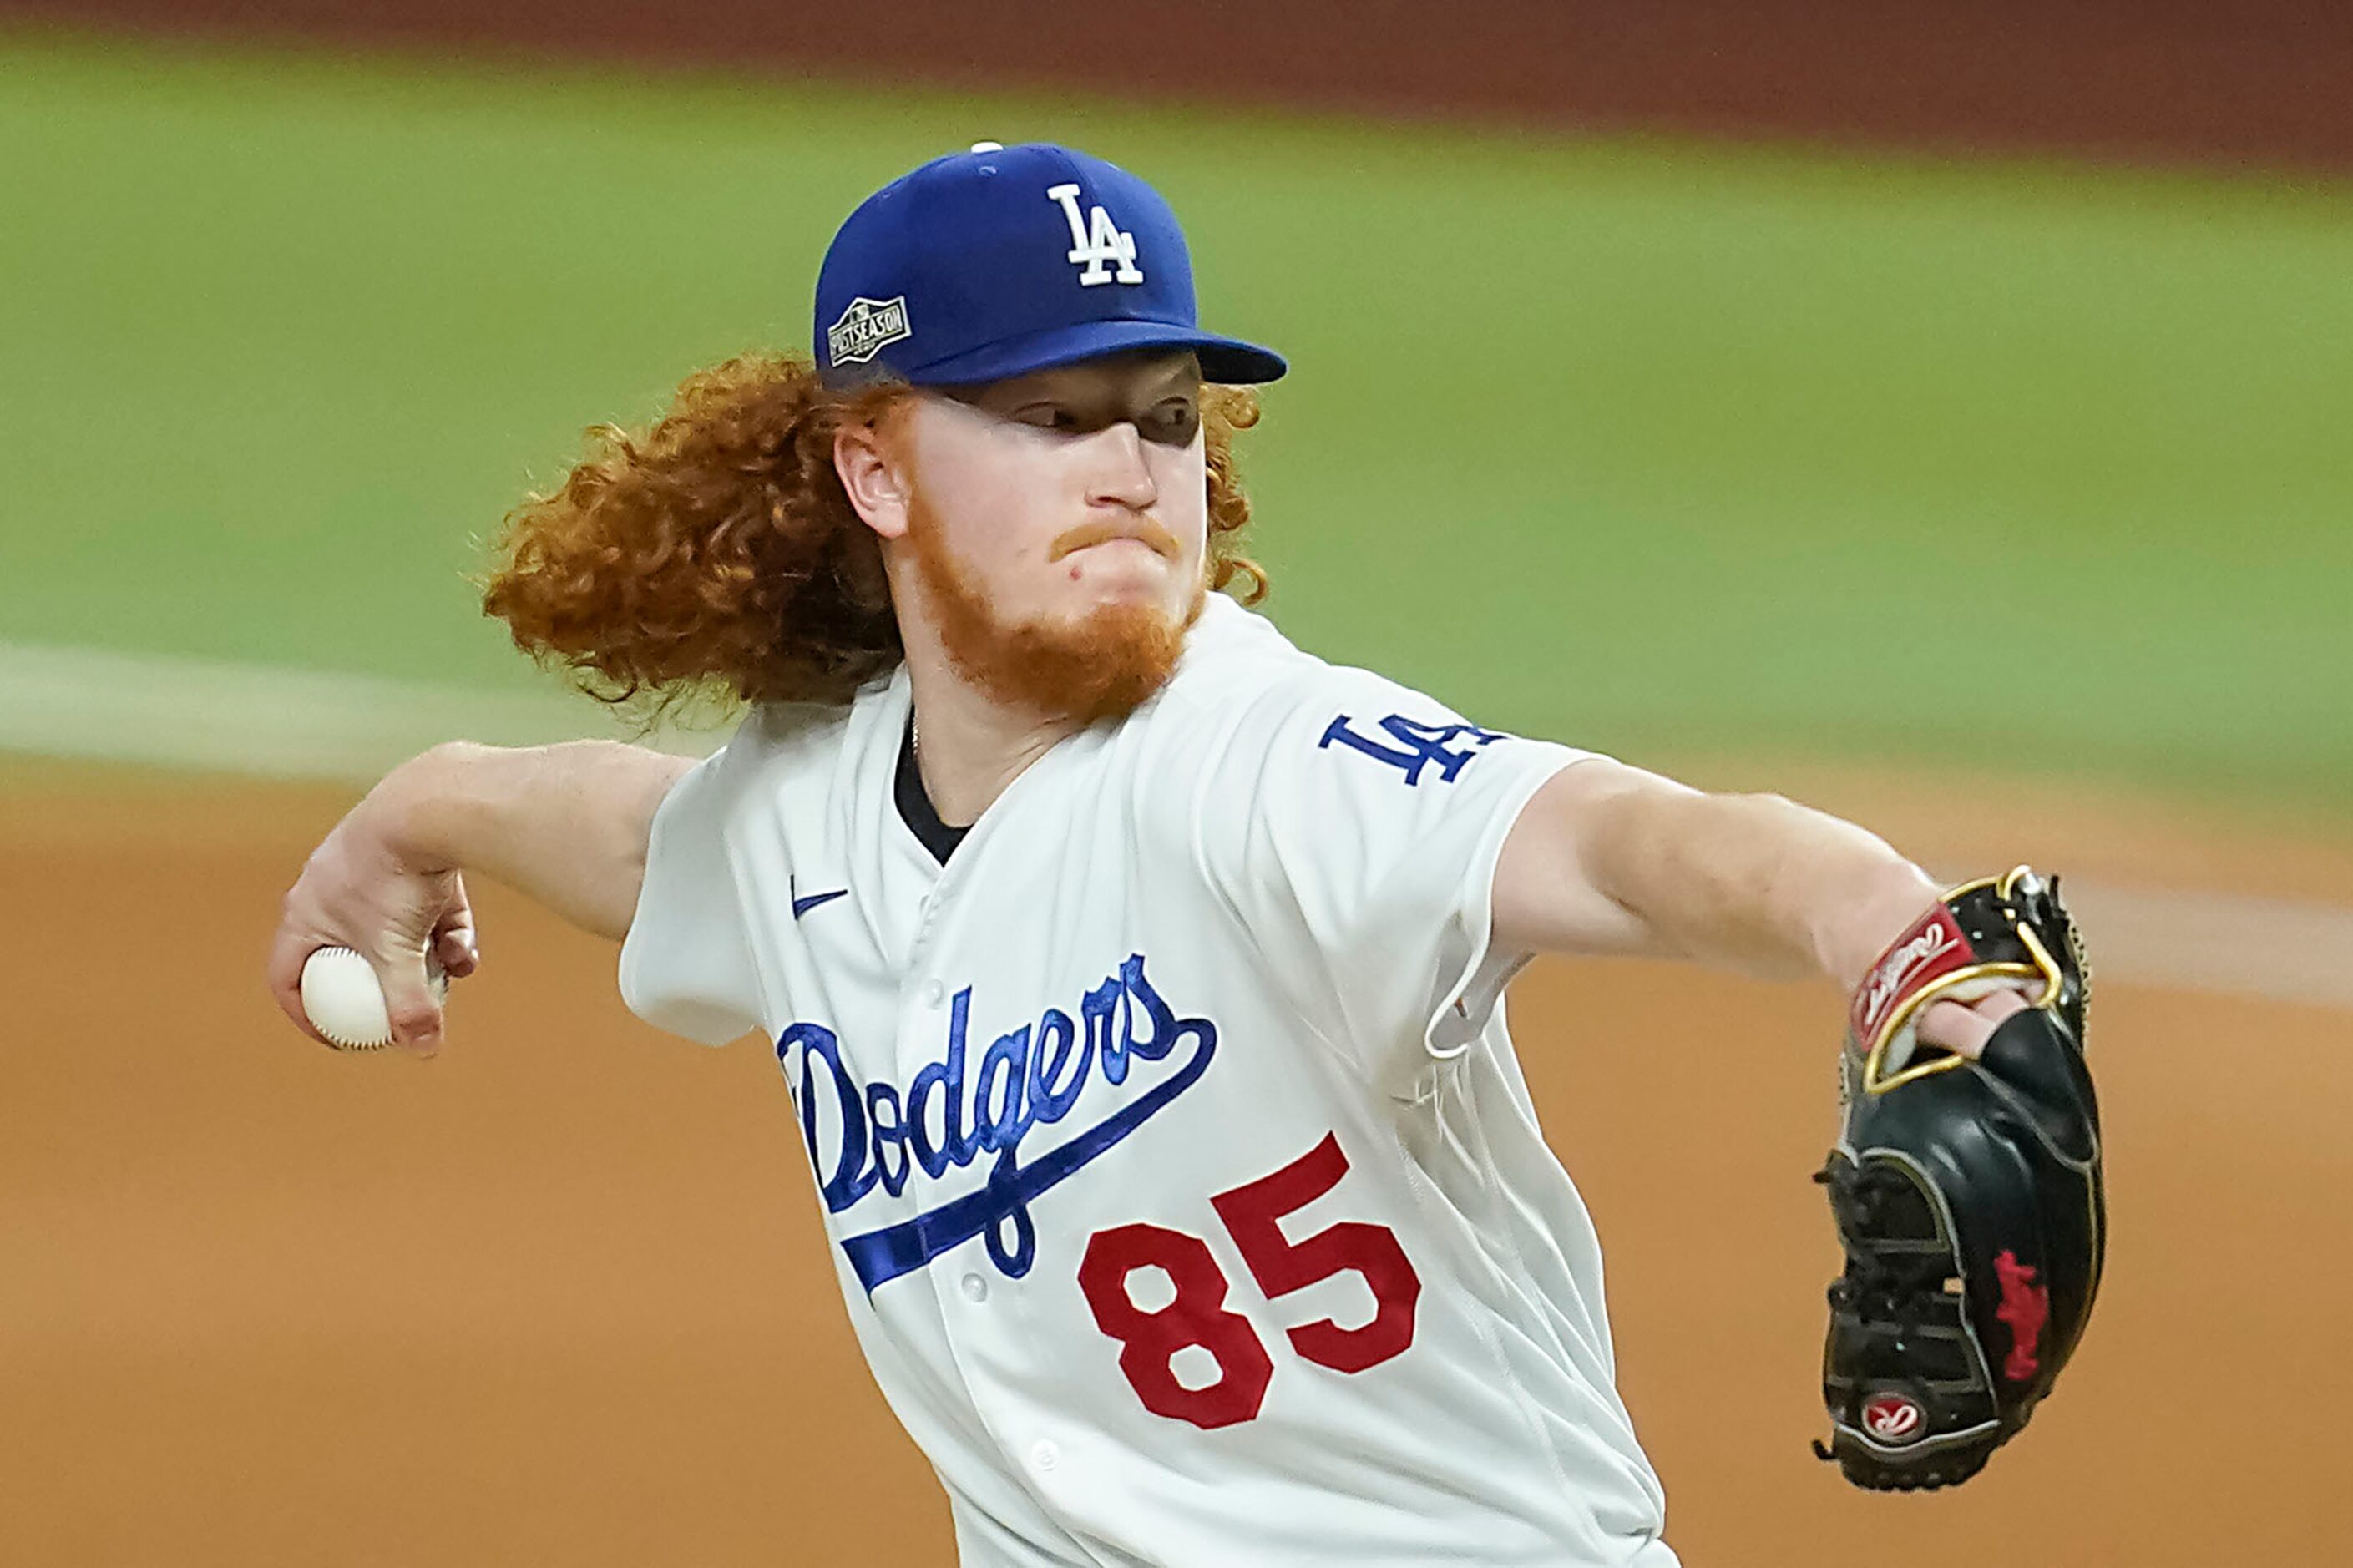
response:
<path fill-rule="evenodd" d="M 461 873 L 776 1052 L 875 1382 L 962 1561 L 1635 1563 L 1664 1495 L 1504 1019 L 1532 954 L 1852 989 L 1937 885 L 1777 796 L 1480 727 L 1219 589 L 1242 391 L 1167 202 L 979 144 L 868 198 L 814 360 L 748 356 L 522 506 L 489 610 L 715 756 L 449 744 L 287 895 L 428 1052 Z M 2014 991 L 1934 1001 L 1962 1057 Z M 1826 1008 L 1828 1015 L 1828 1008 Z M 1642 1048 L 1628 1043 L 1628 1050 Z"/>

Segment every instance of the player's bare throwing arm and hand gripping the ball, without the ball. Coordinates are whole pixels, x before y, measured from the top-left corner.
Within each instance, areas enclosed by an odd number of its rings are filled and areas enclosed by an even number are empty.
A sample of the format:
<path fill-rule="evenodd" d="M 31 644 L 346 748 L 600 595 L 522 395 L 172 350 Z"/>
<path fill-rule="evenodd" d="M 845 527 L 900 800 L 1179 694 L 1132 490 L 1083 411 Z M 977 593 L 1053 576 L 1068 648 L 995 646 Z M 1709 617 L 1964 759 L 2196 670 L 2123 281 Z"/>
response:
<path fill-rule="evenodd" d="M 654 808 L 694 763 L 616 742 L 520 751 L 452 742 L 379 782 L 311 852 L 271 946 L 271 991 L 304 1034 L 301 965 L 320 946 L 367 956 L 393 1041 L 431 1052 L 440 1005 L 426 954 L 478 965 L 461 873 L 501 881 L 600 937 L 628 935 Z"/>

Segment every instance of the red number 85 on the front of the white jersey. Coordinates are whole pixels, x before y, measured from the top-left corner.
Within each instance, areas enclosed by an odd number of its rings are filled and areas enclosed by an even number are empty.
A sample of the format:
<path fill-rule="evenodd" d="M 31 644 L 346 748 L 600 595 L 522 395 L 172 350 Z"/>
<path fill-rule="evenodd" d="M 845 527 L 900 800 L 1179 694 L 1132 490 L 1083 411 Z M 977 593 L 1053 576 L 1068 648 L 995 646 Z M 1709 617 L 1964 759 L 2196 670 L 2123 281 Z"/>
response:
<path fill-rule="evenodd" d="M 1285 1330 L 1292 1349 L 1308 1361 L 1337 1373 L 1362 1373 L 1414 1342 L 1421 1276 L 1398 1245 L 1398 1234 L 1386 1224 L 1351 1220 L 1289 1241 L 1278 1224 L 1339 1187 L 1344 1175 L 1348 1156 L 1339 1151 L 1339 1135 L 1327 1132 L 1282 1170 L 1221 1191 L 1209 1203 L 1268 1300 L 1351 1269 L 1362 1276 L 1377 1307 L 1369 1323 L 1341 1328 L 1332 1318 L 1318 1318 Z M 1127 1278 L 1136 1269 L 1165 1269 L 1176 1300 L 1158 1311 L 1136 1307 L 1127 1295 Z M 1096 1231 L 1078 1264 L 1078 1288 L 1094 1311 L 1094 1326 L 1120 1342 L 1120 1370 L 1153 1415 L 1195 1427 L 1231 1427 L 1252 1420 L 1266 1403 L 1273 1356 L 1249 1318 L 1226 1311 L 1233 1281 L 1200 1236 L 1160 1224 Z M 1207 1349 L 1217 1361 L 1217 1382 L 1188 1389 L 1176 1380 L 1172 1361 L 1188 1344 Z"/>

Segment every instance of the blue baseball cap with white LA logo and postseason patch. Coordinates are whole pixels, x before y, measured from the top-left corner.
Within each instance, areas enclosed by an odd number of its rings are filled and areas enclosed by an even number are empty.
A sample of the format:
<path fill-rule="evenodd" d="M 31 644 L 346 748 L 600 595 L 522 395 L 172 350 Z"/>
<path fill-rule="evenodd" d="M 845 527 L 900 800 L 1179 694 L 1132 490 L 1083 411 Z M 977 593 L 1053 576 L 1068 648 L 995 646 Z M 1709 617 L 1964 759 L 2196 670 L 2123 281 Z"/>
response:
<path fill-rule="evenodd" d="M 1282 356 L 1202 332 L 1176 214 L 1066 146 L 981 141 L 882 186 L 816 273 L 826 384 L 960 386 L 1125 348 L 1191 348 L 1205 381 L 1273 381 Z"/>

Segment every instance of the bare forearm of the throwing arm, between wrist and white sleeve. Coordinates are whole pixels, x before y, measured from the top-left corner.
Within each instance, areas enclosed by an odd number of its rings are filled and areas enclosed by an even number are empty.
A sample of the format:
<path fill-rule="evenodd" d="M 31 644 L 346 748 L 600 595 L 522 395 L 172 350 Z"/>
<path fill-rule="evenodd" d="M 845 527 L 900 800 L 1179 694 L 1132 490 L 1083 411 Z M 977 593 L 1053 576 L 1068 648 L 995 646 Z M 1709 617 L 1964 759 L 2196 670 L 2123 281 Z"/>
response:
<path fill-rule="evenodd" d="M 645 848 L 689 758 L 619 742 L 499 749 L 452 742 L 395 768 L 367 800 L 416 871 L 489 876 L 565 921 L 621 939 Z"/>

